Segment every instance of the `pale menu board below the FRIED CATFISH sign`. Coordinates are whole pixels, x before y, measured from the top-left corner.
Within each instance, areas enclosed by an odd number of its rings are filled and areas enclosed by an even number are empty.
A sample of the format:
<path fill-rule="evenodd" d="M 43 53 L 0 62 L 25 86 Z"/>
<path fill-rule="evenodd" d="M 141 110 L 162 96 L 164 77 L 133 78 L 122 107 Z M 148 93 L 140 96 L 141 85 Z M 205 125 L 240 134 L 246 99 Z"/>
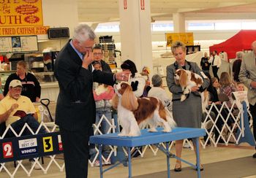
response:
<path fill-rule="evenodd" d="M 0 53 L 38 51 L 37 35 L 0 37 Z"/>

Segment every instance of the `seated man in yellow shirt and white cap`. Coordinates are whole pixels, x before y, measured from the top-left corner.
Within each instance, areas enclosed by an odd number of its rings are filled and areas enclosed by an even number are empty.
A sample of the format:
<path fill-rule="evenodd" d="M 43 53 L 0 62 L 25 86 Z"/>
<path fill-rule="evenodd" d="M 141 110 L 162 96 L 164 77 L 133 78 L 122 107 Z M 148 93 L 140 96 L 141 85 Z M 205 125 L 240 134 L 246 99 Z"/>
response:
<path fill-rule="evenodd" d="M 0 101 L 0 123 L 5 122 L 11 125 L 13 130 L 19 134 L 23 126 L 27 123 L 31 130 L 36 133 L 39 128 L 37 116 L 35 116 L 35 108 L 31 100 L 26 96 L 21 96 L 22 84 L 20 80 L 12 80 L 9 85 L 8 95 Z M 46 133 L 45 128 L 40 128 L 38 133 Z M 11 130 L 7 131 L 10 137 L 15 136 Z M 22 136 L 31 135 L 31 131 L 26 128 Z M 33 159 L 31 159 L 32 165 Z M 36 164 L 34 169 L 40 169 Z"/>

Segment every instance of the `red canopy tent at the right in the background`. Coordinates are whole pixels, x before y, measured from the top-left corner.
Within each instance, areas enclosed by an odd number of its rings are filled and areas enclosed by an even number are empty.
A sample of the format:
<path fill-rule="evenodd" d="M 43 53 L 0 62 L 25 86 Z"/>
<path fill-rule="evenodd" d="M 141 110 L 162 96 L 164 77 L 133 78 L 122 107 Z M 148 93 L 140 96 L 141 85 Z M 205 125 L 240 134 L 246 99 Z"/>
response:
<path fill-rule="evenodd" d="M 256 30 L 241 30 L 225 42 L 214 44 L 210 48 L 210 53 L 217 50 L 217 53 L 224 51 L 227 58 L 236 58 L 236 52 L 252 49 L 251 44 L 256 40 Z"/>

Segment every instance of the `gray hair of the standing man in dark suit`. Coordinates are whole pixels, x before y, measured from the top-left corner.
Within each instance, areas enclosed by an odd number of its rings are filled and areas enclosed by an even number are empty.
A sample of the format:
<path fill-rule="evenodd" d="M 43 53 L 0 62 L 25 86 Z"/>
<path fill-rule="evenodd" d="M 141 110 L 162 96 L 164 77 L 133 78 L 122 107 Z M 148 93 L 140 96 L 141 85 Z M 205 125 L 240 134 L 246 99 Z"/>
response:
<path fill-rule="evenodd" d="M 75 27 L 73 39 L 77 39 L 79 42 L 85 42 L 88 39 L 94 40 L 96 38 L 96 34 L 85 23 L 80 23 Z"/>

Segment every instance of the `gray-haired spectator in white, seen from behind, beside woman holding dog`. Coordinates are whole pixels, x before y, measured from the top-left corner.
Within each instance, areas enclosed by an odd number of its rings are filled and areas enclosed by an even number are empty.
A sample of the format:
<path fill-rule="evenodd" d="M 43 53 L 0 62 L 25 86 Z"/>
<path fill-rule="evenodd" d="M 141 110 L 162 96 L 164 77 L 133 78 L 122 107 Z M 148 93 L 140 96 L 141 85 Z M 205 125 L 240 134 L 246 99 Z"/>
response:
<path fill-rule="evenodd" d="M 162 87 L 162 77 L 159 74 L 154 74 L 151 80 L 153 87 L 148 91 L 148 96 L 159 98 L 162 104 L 171 112 L 173 110 L 173 102 Z"/>

